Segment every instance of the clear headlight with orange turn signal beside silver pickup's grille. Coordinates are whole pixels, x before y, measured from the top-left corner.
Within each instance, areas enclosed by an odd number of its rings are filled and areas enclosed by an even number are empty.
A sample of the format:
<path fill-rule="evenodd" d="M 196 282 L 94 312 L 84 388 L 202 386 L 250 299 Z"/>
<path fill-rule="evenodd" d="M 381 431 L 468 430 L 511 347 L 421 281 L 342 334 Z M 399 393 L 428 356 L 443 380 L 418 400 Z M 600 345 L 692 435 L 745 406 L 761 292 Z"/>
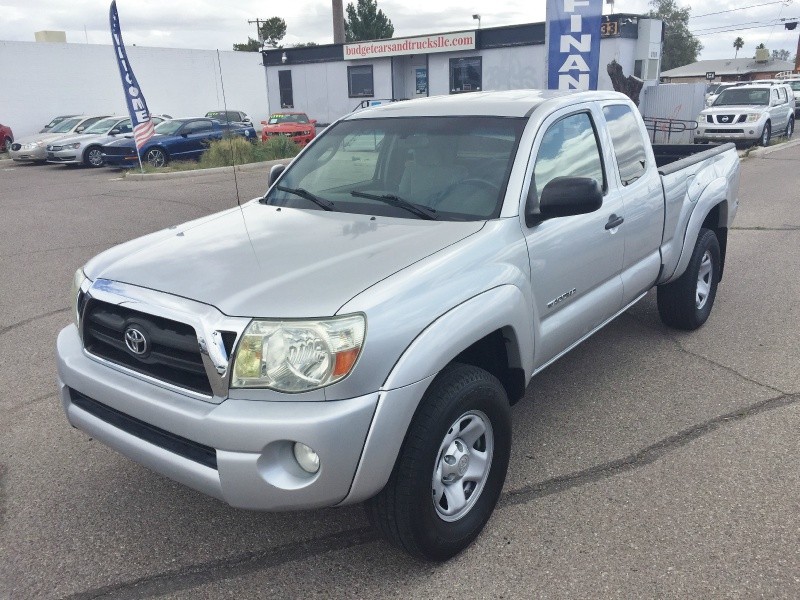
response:
<path fill-rule="evenodd" d="M 363 315 L 253 320 L 236 350 L 231 387 L 306 392 L 335 383 L 353 370 L 365 331 Z"/>

